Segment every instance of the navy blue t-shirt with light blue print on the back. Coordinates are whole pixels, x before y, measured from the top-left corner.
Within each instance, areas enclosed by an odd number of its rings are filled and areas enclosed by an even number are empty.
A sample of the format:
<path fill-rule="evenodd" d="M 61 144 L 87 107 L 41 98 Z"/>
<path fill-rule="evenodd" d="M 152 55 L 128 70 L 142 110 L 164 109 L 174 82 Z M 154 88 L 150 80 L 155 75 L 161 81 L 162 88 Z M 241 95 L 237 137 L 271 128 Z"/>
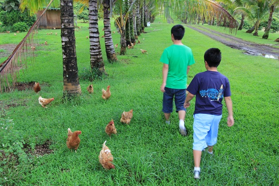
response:
<path fill-rule="evenodd" d="M 214 71 L 195 75 L 187 90 L 196 95 L 194 114 L 222 115 L 222 100 L 231 96 L 228 78 Z"/>

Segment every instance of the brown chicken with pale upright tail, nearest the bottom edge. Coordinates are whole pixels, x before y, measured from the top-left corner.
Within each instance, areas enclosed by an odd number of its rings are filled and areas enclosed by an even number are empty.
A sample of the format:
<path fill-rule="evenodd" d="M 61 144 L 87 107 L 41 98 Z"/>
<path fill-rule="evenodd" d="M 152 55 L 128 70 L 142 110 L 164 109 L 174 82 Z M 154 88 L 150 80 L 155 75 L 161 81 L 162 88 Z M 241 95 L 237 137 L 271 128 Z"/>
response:
<path fill-rule="evenodd" d="M 107 141 L 104 141 L 104 143 L 102 144 L 102 149 L 99 155 L 99 162 L 105 169 L 115 169 L 114 165 L 112 164 L 113 156 L 109 147 L 106 146 L 106 142 Z"/>

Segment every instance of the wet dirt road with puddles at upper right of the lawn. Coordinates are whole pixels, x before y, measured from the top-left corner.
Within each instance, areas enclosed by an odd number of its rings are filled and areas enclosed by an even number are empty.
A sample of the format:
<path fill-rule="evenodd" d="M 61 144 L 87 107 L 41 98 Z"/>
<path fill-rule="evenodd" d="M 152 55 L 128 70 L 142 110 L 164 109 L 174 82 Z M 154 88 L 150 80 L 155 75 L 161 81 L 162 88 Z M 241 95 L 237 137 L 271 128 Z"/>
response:
<path fill-rule="evenodd" d="M 191 25 L 187 25 L 187 27 L 194 29 L 197 32 L 204 34 L 216 41 L 219 41 L 219 42 L 223 43 L 224 45 L 227 45 L 231 48 L 238 49 L 238 50 L 244 50 L 245 54 L 262 55 L 264 57 L 279 59 L 279 49 L 272 47 L 271 45 L 257 44 L 257 43 L 253 43 L 253 42 L 244 41 L 244 40 L 236 38 L 232 35 L 219 33 L 212 29 L 207 29 L 205 31 L 201 28 L 197 28 L 197 27 L 194 27 Z M 276 44 L 276 45 L 279 45 L 279 44 Z"/>

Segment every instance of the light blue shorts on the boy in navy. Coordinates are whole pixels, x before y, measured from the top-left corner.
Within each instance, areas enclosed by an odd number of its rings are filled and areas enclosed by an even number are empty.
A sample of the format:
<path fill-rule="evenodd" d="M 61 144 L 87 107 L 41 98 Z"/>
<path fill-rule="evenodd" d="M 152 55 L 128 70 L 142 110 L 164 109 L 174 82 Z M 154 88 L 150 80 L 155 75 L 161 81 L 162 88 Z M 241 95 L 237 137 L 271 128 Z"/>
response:
<path fill-rule="evenodd" d="M 194 114 L 193 150 L 203 150 L 217 143 L 219 122 L 222 115 Z"/>

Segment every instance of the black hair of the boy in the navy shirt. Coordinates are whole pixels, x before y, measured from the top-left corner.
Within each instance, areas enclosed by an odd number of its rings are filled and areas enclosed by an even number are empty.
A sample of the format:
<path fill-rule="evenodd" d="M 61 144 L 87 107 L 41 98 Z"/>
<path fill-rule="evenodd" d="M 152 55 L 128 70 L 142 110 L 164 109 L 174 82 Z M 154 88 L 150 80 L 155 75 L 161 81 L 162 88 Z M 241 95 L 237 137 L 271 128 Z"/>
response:
<path fill-rule="evenodd" d="M 209 67 L 218 67 L 222 58 L 221 51 L 219 48 L 210 48 L 205 51 L 203 58 Z"/>

